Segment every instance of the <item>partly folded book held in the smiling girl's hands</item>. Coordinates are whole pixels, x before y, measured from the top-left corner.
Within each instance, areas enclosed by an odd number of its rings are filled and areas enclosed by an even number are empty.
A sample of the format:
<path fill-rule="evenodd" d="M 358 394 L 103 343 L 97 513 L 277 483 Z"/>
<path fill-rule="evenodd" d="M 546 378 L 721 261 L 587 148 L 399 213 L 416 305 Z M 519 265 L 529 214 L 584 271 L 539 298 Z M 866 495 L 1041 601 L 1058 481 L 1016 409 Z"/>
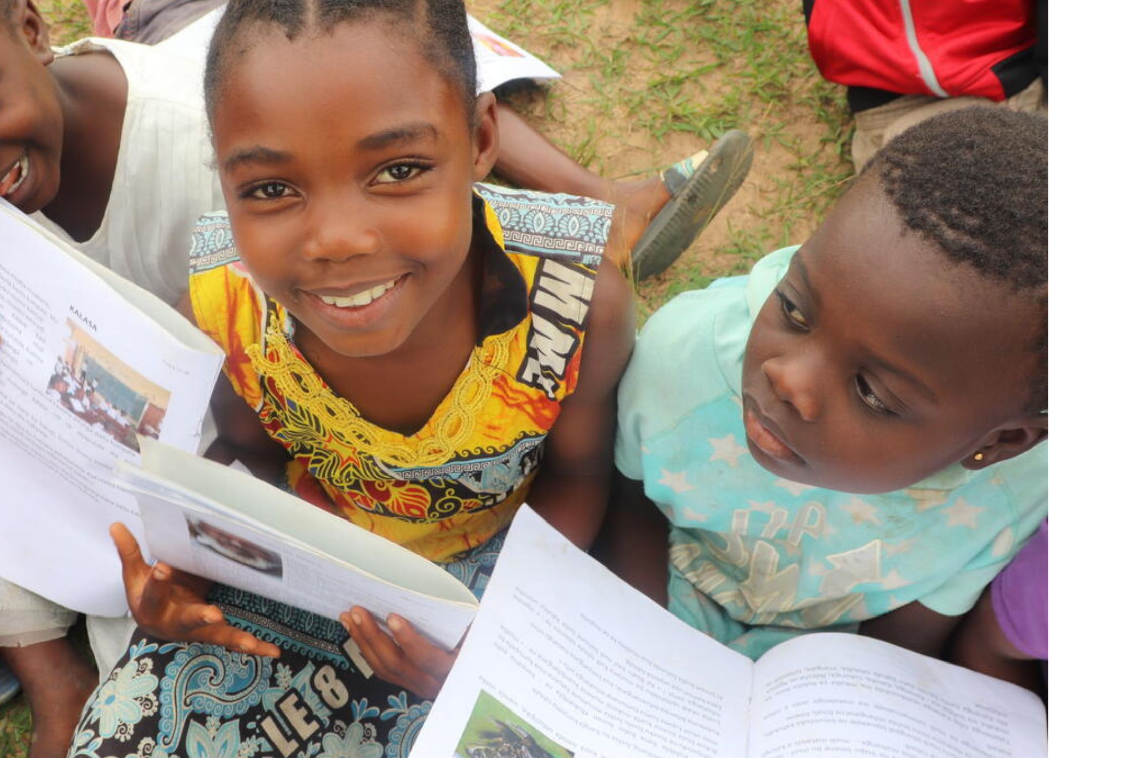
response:
<path fill-rule="evenodd" d="M 353 605 L 397 613 L 446 650 L 475 615 L 468 587 L 406 548 L 250 473 L 152 440 L 140 448 L 142 466 L 118 476 L 153 557 L 329 619 Z"/>

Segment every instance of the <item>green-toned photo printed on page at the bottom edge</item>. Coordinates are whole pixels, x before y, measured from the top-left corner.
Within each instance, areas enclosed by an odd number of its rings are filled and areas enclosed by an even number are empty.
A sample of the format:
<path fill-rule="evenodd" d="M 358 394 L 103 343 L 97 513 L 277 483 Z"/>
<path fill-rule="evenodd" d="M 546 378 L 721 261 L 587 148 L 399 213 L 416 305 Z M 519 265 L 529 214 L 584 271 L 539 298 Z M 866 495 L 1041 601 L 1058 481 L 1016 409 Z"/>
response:
<path fill-rule="evenodd" d="M 573 758 L 573 751 L 481 689 L 455 758 Z"/>

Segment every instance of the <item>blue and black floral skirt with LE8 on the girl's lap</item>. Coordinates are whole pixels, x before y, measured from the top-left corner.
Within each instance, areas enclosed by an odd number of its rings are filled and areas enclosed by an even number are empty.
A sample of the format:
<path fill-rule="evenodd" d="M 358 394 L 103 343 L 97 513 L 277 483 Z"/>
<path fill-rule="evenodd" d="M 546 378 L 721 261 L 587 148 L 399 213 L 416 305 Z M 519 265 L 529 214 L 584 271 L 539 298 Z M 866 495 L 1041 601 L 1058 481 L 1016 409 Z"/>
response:
<path fill-rule="evenodd" d="M 506 531 L 444 565 L 480 597 Z M 209 601 L 281 648 L 260 658 L 134 634 L 90 696 L 72 758 L 400 758 L 430 702 L 369 675 L 337 622 L 225 585 Z M 368 674 L 364 674 L 364 669 Z"/>

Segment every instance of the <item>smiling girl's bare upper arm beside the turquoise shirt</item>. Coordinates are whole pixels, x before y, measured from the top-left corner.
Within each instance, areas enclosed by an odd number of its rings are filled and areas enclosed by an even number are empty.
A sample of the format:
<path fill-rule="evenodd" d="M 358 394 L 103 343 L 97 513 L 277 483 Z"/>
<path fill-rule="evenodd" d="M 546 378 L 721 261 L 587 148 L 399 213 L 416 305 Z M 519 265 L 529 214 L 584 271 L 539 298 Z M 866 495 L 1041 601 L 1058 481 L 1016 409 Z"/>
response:
<path fill-rule="evenodd" d="M 635 340 L 632 290 L 608 261 L 589 306 L 578 388 L 546 436 L 543 468 L 527 502 L 574 544 L 588 549 L 605 517 L 613 477 L 617 382 Z"/>

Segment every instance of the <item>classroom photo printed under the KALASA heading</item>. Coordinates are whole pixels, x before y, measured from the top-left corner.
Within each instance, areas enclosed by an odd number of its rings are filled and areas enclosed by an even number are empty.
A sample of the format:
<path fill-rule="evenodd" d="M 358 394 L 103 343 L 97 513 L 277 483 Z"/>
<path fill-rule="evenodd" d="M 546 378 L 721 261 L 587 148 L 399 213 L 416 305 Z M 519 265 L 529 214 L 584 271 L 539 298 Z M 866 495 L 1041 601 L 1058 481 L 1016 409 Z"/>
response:
<path fill-rule="evenodd" d="M 66 319 L 70 334 L 55 360 L 47 395 L 92 428 L 140 452 L 137 434 L 160 439 L 172 394 Z"/>

